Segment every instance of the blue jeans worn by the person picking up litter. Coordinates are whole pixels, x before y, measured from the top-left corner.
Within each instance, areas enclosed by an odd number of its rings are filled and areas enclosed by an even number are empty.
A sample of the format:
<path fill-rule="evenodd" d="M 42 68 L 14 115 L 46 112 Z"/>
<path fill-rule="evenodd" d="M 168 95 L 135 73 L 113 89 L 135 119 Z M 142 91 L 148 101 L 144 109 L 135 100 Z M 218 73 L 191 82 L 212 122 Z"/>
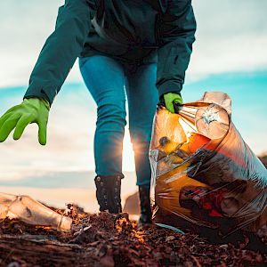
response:
<path fill-rule="evenodd" d="M 140 65 L 95 55 L 80 58 L 79 67 L 97 104 L 94 161 L 97 175 L 122 174 L 125 97 L 134 148 L 137 185 L 150 186 L 149 148 L 158 103 L 157 63 Z"/>

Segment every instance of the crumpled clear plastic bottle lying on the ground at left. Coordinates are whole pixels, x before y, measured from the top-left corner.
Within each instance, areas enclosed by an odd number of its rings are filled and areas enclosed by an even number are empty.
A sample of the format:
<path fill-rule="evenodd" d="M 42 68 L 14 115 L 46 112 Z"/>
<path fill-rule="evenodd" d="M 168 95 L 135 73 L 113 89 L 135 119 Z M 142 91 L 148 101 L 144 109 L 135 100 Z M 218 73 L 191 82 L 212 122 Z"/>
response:
<path fill-rule="evenodd" d="M 14 196 L 0 193 L 0 218 L 19 218 L 34 225 L 51 226 L 67 231 L 71 228 L 69 217 L 57 214 L 28 196 Z"/>

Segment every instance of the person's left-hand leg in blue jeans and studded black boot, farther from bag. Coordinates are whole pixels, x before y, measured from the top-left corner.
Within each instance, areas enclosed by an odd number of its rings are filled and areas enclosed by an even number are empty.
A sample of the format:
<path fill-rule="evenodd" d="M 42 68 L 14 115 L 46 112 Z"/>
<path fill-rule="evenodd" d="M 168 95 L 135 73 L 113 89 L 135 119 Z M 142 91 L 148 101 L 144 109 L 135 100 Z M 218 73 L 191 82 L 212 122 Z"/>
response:
<path fill-rule="evenodd" d="M 124 177 L 125 72 L 119 62 L 105 56 L 82 58 L 79 66 L 85 85 L 97 104 L 94 134 L 97 198 L 101 211 L 108 209 L 117 213 L 121 211 L 121 207 L 116 208 L 116 205 L 120 206 L 118 191 L 120 193 L 120 179 Z"/>

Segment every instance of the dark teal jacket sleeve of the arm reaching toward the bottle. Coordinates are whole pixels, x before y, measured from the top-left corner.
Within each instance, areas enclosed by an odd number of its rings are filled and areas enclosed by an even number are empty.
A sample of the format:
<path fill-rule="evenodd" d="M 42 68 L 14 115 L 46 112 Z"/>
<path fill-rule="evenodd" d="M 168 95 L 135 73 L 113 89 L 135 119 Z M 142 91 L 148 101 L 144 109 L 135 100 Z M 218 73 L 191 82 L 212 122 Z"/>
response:
<path fill-rule="evenodd" d="M 65 0 L 59 9 L 55 30 L 39 54 L 24 98 L 40 97 L 53 103 L 69 70 L 85 44 L 97 0 Z"/>

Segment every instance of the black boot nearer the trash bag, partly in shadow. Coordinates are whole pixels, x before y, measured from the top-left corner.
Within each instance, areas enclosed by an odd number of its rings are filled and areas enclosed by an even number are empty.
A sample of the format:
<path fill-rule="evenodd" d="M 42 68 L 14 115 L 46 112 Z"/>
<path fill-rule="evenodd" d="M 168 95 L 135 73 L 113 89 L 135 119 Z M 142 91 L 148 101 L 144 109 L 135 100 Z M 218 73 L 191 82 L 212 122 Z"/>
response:
<path fill-rule="evenodd" d="M 141 215 L 138 225 L 144 226 L 146 224 L 152 223 L 151 222 L 152 212 L 150 207 L 150 187 L 140 185 L 139 198 L 140 198 Z"/>

